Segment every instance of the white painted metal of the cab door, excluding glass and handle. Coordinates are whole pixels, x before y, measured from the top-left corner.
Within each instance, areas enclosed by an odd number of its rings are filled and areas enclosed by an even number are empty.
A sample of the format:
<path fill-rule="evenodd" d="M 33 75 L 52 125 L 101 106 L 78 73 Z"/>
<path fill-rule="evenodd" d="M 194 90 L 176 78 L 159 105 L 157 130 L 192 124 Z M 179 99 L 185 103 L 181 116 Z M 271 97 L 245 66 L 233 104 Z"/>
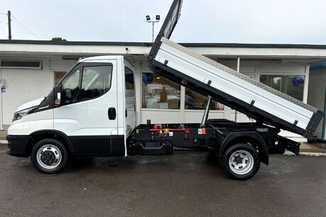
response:
<path fill-rule="evenodd" d="M 89 60 L 91 58 L 87 58 Z M 104 95 L 54 109 L 54 129 L 68 136 L 116 135 L 118 118 L 109 120 L 109 108 L 117 109 L 117 63 L 115 59 L 92 57 L 87 62 L 112 64 L 111 87 Z"/>

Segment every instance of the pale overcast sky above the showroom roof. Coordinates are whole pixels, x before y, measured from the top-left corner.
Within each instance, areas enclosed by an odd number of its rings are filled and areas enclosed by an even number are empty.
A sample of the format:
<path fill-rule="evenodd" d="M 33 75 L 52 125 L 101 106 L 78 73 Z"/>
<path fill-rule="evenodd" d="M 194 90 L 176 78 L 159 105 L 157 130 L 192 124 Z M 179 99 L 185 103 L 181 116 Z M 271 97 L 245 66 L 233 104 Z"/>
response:
<path fill-rule="evenodd" d="M 0 39 L 151 42 L 173 0 L 0 0 Z M 325 0 L 183 0 L 176 43 L 326 45 Z M 1 23 L 2 21 L 2 23 Z"/>

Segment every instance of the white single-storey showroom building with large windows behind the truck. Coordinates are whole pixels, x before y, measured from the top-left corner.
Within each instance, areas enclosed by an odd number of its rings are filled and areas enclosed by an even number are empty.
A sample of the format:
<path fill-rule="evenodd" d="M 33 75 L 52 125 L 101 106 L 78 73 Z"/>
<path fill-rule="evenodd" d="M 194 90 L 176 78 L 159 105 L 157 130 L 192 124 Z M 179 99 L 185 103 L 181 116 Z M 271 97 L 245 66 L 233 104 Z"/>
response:
<path fill-rule="evenodd" d="M 195 52 L 324 111 L 325 45 L 182 43 Z M 162 77 L 147 66 L 151 43 L 0 40 L 0 128 L 16 108 L 47 96 L 80 57 L 124 55 L 134 64 L 137 123 L 200 122 L 207 98 Z M 210 118 L 253 121 L 213 101 Z M 303 138 L 293 133 L 282 135 Z M 317 128 L 325 140 L 325 118 Z"/>

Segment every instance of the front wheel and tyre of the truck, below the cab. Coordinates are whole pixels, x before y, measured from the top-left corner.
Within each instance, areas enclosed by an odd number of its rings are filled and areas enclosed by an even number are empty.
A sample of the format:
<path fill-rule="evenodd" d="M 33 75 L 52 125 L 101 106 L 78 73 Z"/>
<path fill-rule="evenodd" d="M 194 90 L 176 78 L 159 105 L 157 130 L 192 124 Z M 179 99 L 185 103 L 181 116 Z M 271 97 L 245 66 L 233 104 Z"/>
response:
<path fill-rule="evenodd" d="M 39 172 L 59 173 L 68 165 L 68 153 L 58 140 L 44 139 L 34 145 L 31 162 Z"/>

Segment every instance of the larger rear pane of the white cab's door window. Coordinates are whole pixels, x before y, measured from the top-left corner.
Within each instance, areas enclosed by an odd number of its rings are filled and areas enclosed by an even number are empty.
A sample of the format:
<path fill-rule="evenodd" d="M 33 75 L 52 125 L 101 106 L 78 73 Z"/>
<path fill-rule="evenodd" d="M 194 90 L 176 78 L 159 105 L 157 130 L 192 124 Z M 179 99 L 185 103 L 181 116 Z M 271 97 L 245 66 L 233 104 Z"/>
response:
<path fill-rule="evenodd" d="M 80 100 L 85 101 L 105 94 L 111 87 L 111 77 L 111 65 L 84 67 Z"/>

